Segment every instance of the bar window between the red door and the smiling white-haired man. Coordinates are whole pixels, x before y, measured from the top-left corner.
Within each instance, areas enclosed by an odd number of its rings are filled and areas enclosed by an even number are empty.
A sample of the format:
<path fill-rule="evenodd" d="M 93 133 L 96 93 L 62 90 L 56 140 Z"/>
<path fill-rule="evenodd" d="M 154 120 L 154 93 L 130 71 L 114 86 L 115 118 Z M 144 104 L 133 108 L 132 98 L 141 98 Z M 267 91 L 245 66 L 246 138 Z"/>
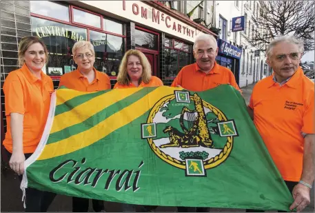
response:
<path fill-rule="evenodd" d="M 172 43 L 174 46 L 171 45 Z M 192 63 L 191 46 L 175 39 L 165 38 L 165 77 L 176 77 L 181 68 Z"/>

